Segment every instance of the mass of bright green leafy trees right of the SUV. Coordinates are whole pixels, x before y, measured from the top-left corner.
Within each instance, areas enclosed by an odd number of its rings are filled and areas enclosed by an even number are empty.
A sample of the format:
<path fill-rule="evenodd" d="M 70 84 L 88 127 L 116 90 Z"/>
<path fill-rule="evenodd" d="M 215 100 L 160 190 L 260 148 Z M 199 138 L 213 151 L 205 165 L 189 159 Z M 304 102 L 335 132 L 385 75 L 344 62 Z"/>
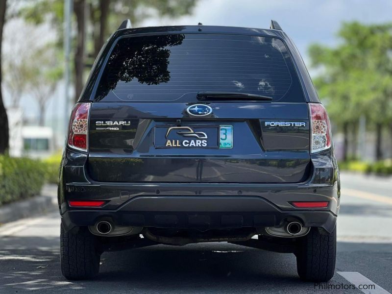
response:
<path fill-rule="evenodd" d="M 344 159 L 349 129 L 356 132 L 361 115 L 375 127 L 375 157 L 381 159 L 382 129 L 392 121 L 392 24 L 345 23 L 338 36 L 342 43 L 336 48 L 313 45 L 309 50 L 312 66 L 321 69 L 319 94 L 343 130 Z"/>

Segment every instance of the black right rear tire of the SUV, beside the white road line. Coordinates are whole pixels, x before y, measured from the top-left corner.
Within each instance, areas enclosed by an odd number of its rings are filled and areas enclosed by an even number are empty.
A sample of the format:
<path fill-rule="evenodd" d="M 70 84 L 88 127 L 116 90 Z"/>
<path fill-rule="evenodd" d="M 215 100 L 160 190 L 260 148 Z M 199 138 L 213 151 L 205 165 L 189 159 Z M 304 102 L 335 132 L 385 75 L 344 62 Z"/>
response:
<path fill-rule="evenodd" d="M 336 226 L 330 234 L 321 234 L 318 228 L 311 228 L 301 238 L 295 255 L 297 272 L 302 280 L 329 281 L 335 273 Z"/>

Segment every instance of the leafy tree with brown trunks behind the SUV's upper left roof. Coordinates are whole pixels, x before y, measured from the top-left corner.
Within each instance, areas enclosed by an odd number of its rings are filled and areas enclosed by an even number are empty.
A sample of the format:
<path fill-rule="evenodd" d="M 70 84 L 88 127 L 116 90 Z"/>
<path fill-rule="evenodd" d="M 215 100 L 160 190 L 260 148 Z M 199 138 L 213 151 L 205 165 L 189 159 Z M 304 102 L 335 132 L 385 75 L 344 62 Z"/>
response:
<path fill-rule="evenodd" d="M 62 45 L 63 0 L 35 0 L 22 9 L 22 15 L 35 24 L 46 21 L 49 16 L 54 27 L 59 31 L 58 45 Z M 131 19 L 133 24 L 153 16 L 178 17 L 189 14 L 196 0 L 73 0 L 73 13 L 76 20 L 74 50 L 74 99 L 77 100 L 84 83 L 86 56 L 96 58 L 105 38 L 123 19 Z M 87 7 L 90 9 L 92 35 L 87 35 Z M 110 29 L 108 28 L 110 26 Z M 93 46 L 89 46 L 89 43 Z M 86 48 L 91 52 L 86 54 Z M 92 65 L 92 61 L 88 62 Z M 90 66 L 89 66 L 90 67 Z"/>

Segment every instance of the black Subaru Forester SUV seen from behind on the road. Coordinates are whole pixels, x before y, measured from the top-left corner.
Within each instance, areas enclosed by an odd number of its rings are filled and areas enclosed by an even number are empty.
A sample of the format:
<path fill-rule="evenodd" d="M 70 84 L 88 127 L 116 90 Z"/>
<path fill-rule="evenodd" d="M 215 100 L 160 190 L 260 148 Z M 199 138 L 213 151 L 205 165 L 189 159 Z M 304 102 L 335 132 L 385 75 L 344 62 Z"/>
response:
<path fill-rule="evenodd" d="M 225 26 L 130 28 L 103 47 L 61 163 L 61 269 L 102 252 L 230 242 L 335 269 L 340 181 L 328 116 L 290 38 Z"/>

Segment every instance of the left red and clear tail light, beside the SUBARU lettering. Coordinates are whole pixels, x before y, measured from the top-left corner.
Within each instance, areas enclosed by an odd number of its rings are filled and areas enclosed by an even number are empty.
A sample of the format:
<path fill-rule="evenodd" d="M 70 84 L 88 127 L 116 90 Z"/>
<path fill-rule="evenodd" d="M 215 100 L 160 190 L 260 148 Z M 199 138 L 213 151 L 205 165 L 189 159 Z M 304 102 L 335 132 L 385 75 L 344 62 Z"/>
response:
<path fill-rule="evenodd" d="M 78 103 L 73 107 L 70 129 L 68 133 L 68 146 L 81 151 L 88 150 L 88 121 L 90 103 Z"/>

